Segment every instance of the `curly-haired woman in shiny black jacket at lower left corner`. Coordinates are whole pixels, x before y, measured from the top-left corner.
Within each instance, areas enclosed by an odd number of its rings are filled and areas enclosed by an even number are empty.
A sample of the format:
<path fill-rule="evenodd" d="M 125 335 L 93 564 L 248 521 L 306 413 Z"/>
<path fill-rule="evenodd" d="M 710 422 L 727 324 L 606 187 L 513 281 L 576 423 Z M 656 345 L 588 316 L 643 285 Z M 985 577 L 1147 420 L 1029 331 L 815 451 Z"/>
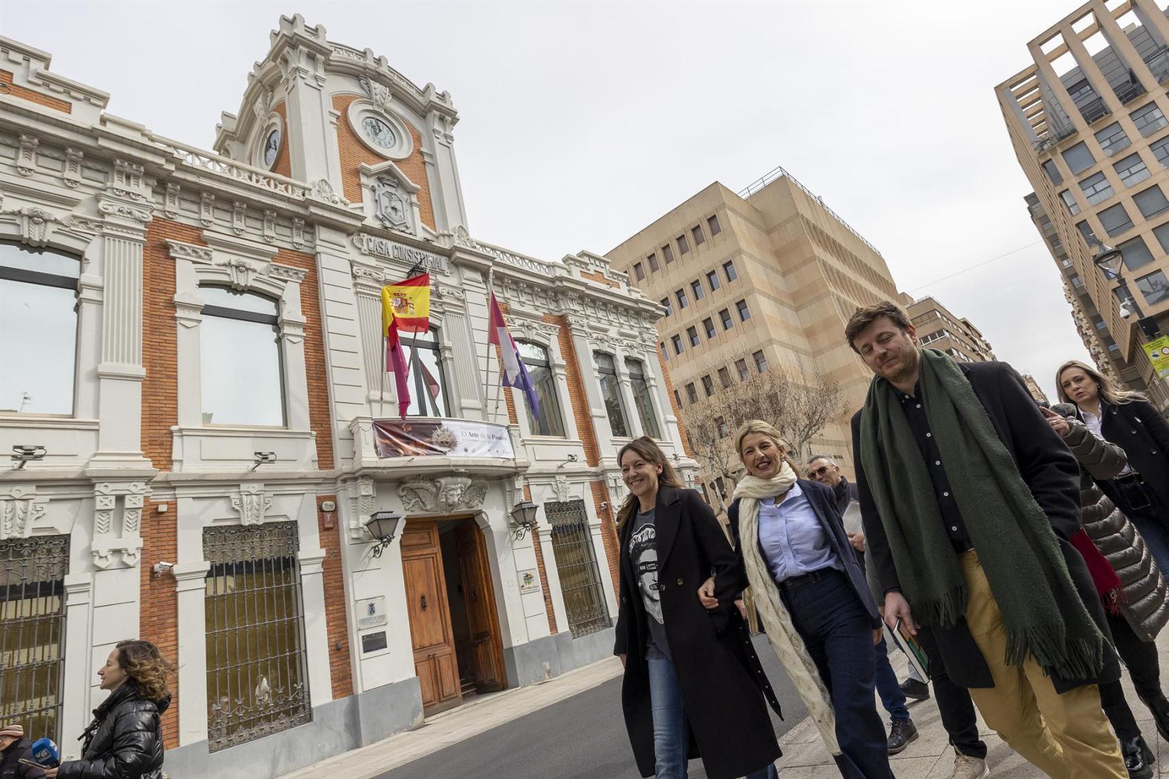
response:
<path fill-rule="evenodd" d="M 81 760 L 47 768 L 46 779 L 160 779 L 161 715 L 171 703 L 171 663 L 150 641 L 122 641 L 98 669 L 110 696 L 94 710 Z"/>

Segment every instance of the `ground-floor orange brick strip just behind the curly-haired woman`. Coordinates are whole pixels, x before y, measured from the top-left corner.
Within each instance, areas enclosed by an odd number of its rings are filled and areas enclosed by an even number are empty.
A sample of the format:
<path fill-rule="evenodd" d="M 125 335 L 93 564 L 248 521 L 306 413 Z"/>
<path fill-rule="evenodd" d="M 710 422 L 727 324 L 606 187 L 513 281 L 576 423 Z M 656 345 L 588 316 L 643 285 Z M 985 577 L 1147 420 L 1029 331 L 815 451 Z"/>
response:
<path fill-rule="evenodd" d="M 174 320 L 171 320 L 172 328 Z M 179 594 L 173 577 L 159 577 L 151 580 L 151 570 L 155 563 L 178 559 L 177 503 L 170 502 L 166 513 L 158 512 L 158 502 L 147 501 L 143 506 L 141 537 L 143 553 L 139 567 L 139 587 L 141 602 L 139 605 L 138 634 L 151 641 L 162 653 L 162 656 L 178 667 L 179 663 Z M 131 636 L 125 636 L 131 637 Z M 202 642 L 202 636 L 195 636 Z M 193 641 L 187 637 L 188 643 Z M 179 675 L 167 680 L 171 688 L 171 708 L 162 715 L 162 743 L 168 750 L 179 746 Z"/>

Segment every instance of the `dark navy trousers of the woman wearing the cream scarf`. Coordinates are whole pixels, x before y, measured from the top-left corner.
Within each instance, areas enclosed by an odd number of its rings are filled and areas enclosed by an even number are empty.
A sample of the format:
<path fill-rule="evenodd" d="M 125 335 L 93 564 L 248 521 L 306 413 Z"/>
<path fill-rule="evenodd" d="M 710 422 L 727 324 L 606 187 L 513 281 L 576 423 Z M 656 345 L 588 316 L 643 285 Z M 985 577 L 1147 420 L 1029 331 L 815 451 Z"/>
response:
<path fill-rule="evenodd" d="M 823 568 L 819 579 L 781 586 L 836 710 L 836 765 L 845 779 L 893 779 L 885 725 L 873 701 L 876 655 L 869 613 L 849 579 Z"/>

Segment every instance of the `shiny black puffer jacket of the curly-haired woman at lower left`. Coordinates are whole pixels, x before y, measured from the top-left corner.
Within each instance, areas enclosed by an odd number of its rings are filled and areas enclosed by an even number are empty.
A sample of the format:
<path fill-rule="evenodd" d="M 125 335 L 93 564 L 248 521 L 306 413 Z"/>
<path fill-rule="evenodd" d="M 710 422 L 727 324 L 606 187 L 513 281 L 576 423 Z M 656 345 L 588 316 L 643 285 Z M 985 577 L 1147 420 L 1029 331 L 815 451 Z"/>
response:
<path fill-rule="evenodd" d="M 57 779 L 155 779 L 162 767 L 161 715 L 171 697 L 154 703 L 123 684 L 94 710 L 81 760 L 61 764 Z"/>

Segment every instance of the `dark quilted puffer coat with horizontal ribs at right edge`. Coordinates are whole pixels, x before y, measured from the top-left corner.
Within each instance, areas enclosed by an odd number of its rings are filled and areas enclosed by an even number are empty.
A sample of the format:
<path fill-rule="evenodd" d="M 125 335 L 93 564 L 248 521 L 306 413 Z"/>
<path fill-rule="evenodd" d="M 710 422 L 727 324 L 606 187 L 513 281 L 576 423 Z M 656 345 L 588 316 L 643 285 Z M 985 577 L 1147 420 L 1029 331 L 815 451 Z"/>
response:
<path fill-rule="evenodd" d="M 1125 469 L 1125 450 L 1098 439 L 1078 419 L 1067 422 L 1072 429 L 1064 441 L 1080 463 L 1084 530 L 1120 577 L 1125 620 L 1142 641 L 1153 641 L 1169 622 L 1169 587 L 1144 539 L 1095 481 Z"/>

